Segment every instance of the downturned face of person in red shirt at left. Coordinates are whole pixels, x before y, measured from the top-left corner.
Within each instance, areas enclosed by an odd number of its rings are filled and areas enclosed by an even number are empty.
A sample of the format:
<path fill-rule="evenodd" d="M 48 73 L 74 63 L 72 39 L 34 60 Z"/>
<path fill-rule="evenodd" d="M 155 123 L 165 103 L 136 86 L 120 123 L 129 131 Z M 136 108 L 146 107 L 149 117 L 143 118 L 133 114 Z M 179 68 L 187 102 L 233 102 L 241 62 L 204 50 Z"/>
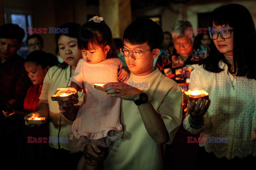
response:
<path fill-rule="evenodd" d="M 45 69 L 43 69 L 42 65 L 37 65 L 34 62 L 26 62 L 24 64 L 24 66 L 28 73 L 28 77 L 32 81 L 32 83 L 34 85 L 41 85 L 41 87 L 42 87 L 44 77 L 45 77 L 49 67 L 46 67 Z"/>

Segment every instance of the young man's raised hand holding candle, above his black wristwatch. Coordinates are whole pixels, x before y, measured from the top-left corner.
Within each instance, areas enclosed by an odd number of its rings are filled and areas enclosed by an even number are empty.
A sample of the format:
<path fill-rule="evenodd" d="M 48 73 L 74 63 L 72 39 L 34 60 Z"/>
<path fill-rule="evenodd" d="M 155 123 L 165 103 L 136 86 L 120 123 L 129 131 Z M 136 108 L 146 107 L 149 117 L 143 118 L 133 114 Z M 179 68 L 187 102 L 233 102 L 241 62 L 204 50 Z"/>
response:
<path fill-rule="evenodd" d="M 125 100 L 138 100 L 142 93 L 142 91 L 137 88 L 118 82 L 107 83 L 103 88 L 111 97 L 119 97 Z"/>

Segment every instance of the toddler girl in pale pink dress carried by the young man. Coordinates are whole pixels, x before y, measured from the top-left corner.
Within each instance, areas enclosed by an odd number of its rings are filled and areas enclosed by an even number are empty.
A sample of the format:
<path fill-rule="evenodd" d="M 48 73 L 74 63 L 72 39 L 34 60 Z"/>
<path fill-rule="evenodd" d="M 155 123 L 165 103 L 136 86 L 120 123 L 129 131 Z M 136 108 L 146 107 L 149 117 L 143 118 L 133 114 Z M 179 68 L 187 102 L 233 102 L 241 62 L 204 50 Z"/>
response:
<path fill-rule="evenodd" d="M 127 80 L 129 71 L 123 68 L 122 60 L 117 57 L 111 31 L 101 17 L 94 16 L 82 26 L 78 47 L 82 49 L 83 58 L 70 78 L 71 85 L 58 88 L 60 91 L 84 89 L 84 104 L 68 130 L 71 152 L 84 151 L 85 145 L 90 142 L 106 149 L 123 134 L 120 123 L 121 99 L 94 89 L 94 84 Z M 84 157 L 78 163 L 78 169 L 97 168 L 86 164 Z"/>

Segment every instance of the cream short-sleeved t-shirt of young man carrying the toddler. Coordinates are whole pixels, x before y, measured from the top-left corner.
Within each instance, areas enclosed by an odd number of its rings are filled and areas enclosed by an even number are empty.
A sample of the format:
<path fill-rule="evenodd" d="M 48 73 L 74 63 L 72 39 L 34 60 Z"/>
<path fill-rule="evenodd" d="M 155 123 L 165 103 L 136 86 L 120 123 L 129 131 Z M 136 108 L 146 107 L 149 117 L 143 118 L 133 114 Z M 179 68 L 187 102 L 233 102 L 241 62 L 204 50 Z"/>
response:
<path fill-rule="evenodd" d="M 132 82 L 148 95 L 150 103 L 163 118 L 170 136 L 167 144 L 171 144 L 182 121 L 180 87 L 158 69 L 143 76 L 130 73 L 125 83 L 131 85 Z M 122 100 L 121 123 L 124 135 L 109 148 L 104 169 L 162 169 L 159 146 L 148 134 L 138 107 L 131 100 Z"/>

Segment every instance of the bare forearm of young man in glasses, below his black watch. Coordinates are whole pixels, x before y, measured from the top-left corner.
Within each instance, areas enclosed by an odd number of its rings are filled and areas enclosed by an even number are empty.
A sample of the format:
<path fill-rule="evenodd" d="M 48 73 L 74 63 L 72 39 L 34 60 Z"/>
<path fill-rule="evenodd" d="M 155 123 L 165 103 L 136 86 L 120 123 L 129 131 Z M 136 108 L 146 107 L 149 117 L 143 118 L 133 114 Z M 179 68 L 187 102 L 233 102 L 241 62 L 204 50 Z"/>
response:
<path fill-rule="evenodd" d="M 138 106 L 142 121 L 150 137 L 158 145 L 166 143 L 170 137 L 165 127 L 162 117 L 155 111 L 154 107 L 148 101 Z"/>

